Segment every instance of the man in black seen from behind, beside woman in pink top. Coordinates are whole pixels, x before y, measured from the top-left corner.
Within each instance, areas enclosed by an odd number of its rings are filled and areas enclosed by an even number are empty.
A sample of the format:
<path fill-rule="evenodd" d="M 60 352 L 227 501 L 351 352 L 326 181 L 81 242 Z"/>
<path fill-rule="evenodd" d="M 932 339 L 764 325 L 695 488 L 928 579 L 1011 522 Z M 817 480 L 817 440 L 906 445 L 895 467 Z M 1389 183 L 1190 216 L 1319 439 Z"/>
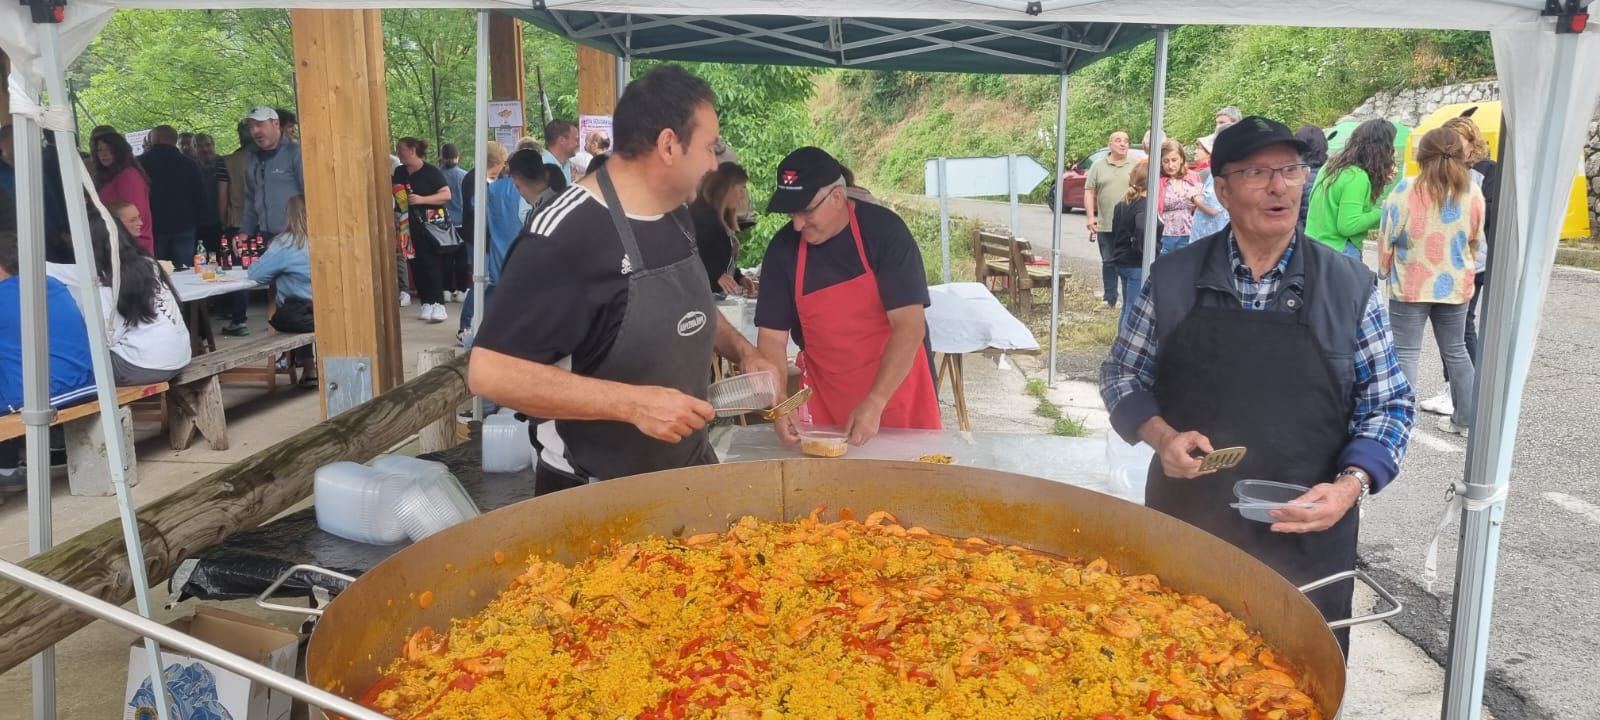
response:
<path fill-rule="evenodd" d="M 187 267 L 195 253 L 195 229 L 206 192 L 200 166 L 178 149 L 178 130 L 157 125 L 150 146 L 139 157 L 150 179 L 150 222 L 155 227 L 155 258 Z"/>

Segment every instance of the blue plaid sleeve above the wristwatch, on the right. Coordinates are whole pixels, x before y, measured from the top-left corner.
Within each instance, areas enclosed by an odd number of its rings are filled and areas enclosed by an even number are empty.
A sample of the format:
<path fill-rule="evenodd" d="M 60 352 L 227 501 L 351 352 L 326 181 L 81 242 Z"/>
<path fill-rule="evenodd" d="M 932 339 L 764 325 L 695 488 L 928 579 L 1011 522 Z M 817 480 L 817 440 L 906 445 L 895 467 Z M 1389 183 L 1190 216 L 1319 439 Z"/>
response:
<path fill-rule="evenodd" d="M 1355 346 L 1352 440 L 1339 456 L 1339 467 L 1357 466 L 1366 470 L 1373 477 L 1373 491 L 1378 491 L 1400 472 L 1411 426 L 1416 422 L 1416 392 L 1400 373 L 1381 285 L 1373 288 L 1366 301 L 1360 333 Z"/>

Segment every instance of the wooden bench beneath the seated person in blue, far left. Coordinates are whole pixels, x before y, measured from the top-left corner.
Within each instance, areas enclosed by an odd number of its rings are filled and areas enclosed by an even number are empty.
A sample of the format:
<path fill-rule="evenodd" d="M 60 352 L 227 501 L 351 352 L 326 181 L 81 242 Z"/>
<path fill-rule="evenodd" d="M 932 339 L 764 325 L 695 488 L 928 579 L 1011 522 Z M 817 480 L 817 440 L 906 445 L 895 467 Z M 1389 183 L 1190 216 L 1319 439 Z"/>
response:
<path fill-rule="evenodd" d="M 166 382 L 117 389 L 117 422 L 122 426 L 123 446 L 128 448 L 128 485 L 138 485 L 138 464 L 133 458 L 133 414 L 128 403 L 166 392 Z M 56 411 L 51 427 L 61 426 L 67 440 L 67 483 L 72 494 L 115 494 L 110 482 L 110 453 L 106 451 L 99 400 L 90 400 Z M 21 414 L 0 416 L 0 440 L 14 440 L 27 432 Z"/>

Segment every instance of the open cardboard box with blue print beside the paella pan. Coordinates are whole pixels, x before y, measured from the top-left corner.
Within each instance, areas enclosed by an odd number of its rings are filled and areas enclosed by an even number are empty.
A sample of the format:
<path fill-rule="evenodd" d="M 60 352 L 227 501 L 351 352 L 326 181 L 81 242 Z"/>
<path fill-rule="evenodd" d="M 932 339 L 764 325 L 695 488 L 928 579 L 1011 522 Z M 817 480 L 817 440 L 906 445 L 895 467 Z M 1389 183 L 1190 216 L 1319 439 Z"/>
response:
<path fill-rule="evenodd" d="M 272 670 L 294 675 L 299 635 L 270 622 L 216 608 L 195 608 L 166 627 L 253 659 Z M 291 698 L 232 670 L 162 648 L 166 690 L 187 720 L 288 720 Z M 155 720 L 149 654 L 144 638 L 128 648 L 128 688 L 123 720 Z"/>

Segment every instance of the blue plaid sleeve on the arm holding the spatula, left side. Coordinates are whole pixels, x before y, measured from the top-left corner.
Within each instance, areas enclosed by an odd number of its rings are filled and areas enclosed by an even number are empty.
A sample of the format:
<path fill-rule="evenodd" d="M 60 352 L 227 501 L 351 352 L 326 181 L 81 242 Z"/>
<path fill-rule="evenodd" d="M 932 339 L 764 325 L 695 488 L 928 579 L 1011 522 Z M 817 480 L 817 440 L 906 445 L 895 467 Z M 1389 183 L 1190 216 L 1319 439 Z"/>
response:
<path fill-rule="evenodd" d="M 1158 413 L 1155 405 L 1155 310 L 1150 307 L 1150 282 L 1144 283 L 1133 304 L 1128 325 L 1117 333 L 1110 355 L 1101 363 L 1101 400 L 1110 411 L 1110 424 L 1130 443 L 1139 442 L 1139 426 Z"/>

